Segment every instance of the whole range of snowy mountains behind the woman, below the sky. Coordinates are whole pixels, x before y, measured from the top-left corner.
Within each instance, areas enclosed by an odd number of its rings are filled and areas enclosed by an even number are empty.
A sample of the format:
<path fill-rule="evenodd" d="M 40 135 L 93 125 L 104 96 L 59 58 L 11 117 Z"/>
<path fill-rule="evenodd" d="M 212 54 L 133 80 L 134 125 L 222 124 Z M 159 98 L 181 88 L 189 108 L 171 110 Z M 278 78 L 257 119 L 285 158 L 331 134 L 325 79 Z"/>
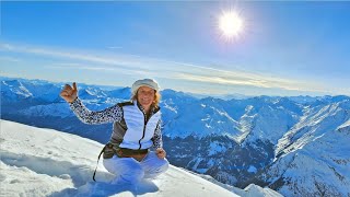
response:
<path fill-rule="evenodd" d="M 112 124 L 80 123 L 68 104 L 58 97 L 62 85 L 2 79 L 2 118 L 107 142 Z M 103 109 L 130 96 L 130 88 L 79 83 L 78 88 L 80 99 L 90 109 Z M 163 140 L 172 164 L 241 188 L 250 183 L 269 186 L 284 196 L 323 194 L 319 185 L 337 188 L 345 196 L 350 194 L 350 176 L 346 173 L 350 171 L 350 151 L 332 152 L 349 150 L 350 143 L 324 141 L 325 137 L 338 141 L 337 131 L 347 128 L 343 126 L 350 119 L 349 96 L 256 96 L 225 101 L 198 99 L 173 90 L 163 90 L 161 94 Z M 349 136 L 342 137 L 349 139 Z M 308 163 L 336 160 L 342 165 L 328 163 L 330 167 L 319 172 L 308 171 L 302 162 L 290 165 L 292 161 L 298 162 L 294 155 L 304 155 L 305 151 Z M 298 169 L 291 171 L 293 166 Z M 343 167 L 348 171 L 342 171 Z M 328 182 L 330 174 L 342 181 Z M 313 176 L 318 178 L 312 182 Z M 304 184 L 305 179 L 310 184 Z M 288 186 L 290 181 L 295 186 Z"/>

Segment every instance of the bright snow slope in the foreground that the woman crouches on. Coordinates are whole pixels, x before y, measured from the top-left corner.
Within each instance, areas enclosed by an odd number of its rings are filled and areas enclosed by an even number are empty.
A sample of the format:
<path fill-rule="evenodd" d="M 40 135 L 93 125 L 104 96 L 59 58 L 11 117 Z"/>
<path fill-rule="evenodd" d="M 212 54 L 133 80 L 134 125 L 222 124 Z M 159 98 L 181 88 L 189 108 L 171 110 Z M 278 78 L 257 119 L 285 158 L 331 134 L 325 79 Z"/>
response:
<path fill-rule="evenodd" d="M 94 183 L 98 142 L 8 120 L 0 140 L 0 196 L 281 196 L 256 185 L 223 188 L 175 166 L 132 187 L 109 184 L 113 176 L 100 164 Z"/>

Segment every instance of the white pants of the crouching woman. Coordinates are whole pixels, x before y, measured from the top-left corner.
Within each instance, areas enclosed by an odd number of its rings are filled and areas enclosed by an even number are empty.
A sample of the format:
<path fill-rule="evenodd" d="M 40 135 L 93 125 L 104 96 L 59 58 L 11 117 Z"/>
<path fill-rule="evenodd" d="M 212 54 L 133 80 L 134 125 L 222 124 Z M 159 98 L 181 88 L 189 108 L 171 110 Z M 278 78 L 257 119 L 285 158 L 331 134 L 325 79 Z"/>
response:
<path fill-rule="evenodd" d="M 150 151 L 142 161 L 138 162 L 133 158 L 104 159 L 105 169 L 116 175 L 113 184 L 137 184 L 142 178 L 153 178 L 164 173 L 168 169 L 168 161 L 159 159 L 155 152 Z"/>

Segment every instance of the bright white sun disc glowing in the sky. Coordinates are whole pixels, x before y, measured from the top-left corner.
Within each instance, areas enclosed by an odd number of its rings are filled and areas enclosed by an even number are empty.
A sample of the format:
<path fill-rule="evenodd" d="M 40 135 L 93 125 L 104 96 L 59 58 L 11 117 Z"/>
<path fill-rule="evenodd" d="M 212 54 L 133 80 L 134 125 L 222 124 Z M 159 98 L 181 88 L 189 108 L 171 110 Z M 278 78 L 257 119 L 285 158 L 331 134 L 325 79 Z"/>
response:
<path fill-rule="evenodd" d="M 236 38 L 243 32 L 243 20 L 234 11 L 223 12 L 219 18 L 219 28 L 228 39 Z"/>

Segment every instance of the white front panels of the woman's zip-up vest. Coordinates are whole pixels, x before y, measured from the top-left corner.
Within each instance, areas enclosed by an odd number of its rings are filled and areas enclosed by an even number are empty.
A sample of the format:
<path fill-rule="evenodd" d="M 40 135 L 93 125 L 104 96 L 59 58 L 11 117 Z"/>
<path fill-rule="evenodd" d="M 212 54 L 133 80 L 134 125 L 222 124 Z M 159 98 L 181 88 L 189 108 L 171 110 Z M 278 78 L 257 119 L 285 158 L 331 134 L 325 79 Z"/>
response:
<path fill-rule="evenodd" d="M 161 112 L 159 111 L 153 114 L 147 125 L 144 125 L 145 117 L 138 107 L 137 101 L 133 102 L 133 105 L 122 106 L 122 111 L 128 129 L 119 147 L 135 150 L 152 147 L 153 141 L 151 138 L 153 138 L 156 124 L 161 119 Z"/>

